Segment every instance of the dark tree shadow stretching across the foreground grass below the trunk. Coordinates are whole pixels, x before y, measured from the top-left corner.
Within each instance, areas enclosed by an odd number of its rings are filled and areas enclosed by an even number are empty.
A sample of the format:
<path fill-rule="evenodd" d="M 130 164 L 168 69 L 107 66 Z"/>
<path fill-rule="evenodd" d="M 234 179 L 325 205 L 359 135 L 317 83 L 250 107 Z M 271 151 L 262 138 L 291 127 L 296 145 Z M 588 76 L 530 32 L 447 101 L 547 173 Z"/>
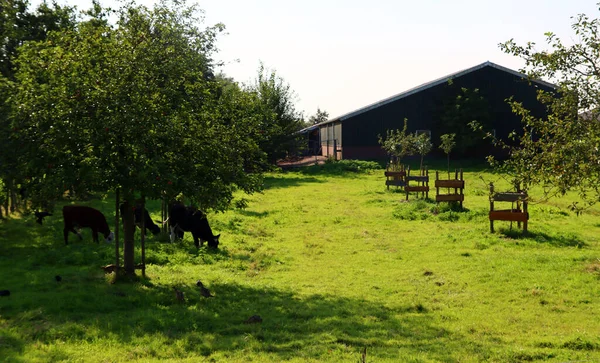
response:
<path fill-rule="evenodd" d="M 29 345 L 106 336 L 116 336 L 120 344 L 131 344 L 131 349 L 140 339 L 177 342 L 191 357 L 262 353 L 289 360 L 300 351 L 311 351 L 312 358 L 326 359 L 331 349 L 358 352 L 369 347 L 388 358 L 398 358 L 402 348 L 443 361 L 451 357 L 445 343 L 462 346 L 475 357 L 489 354 L 485 346 L 436 325 L 420 304 L 387 307 L 363 299 L 298 296 L 235 283 L 211 284 L 215 296 L 203 298 L 193 282 L 170 285 L 155 279 L 110 285 L 96 274 L 80 273 L 49 287 L 37 278 L 40 271 L 23 292 L 35 303 L 12 306 L 11 302 L 20 299 L 19 293 L 12 301 L 1 302 L 7 327 L 18 333 L 3 340 L 8 347 L 5 358 L 19 361 Z M 176 299 L 173 286 L 184 293 L 184 301 Z M 74 291 L 78 291 L 75 297 L 64 299 Z M 64 302 L 56 304 L 56 299 Z M 247 323 L 253 315 L 259 315 L 262 322 Z M 161 354 L 170 353 L 146 354 L 140 358 L 160 359 L 166 358 Z"/>

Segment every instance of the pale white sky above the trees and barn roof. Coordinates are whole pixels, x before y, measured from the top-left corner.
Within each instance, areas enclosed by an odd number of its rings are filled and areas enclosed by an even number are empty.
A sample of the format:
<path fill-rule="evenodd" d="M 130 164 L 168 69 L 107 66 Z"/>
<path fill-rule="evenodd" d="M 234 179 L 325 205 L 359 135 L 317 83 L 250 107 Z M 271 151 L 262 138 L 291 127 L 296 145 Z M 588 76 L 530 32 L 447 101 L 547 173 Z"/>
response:
<path fill-rule="evenodd" d="M 30 0 L 32 5 L 41 0 Z M 59 0 L 89 7 L 91 0 Z M 150 5 L 154 0 L 138 0 Z M 101 0 L 113 5 L 115 0 Z M 256 78 L 259 62 L 297 95 L 308 117 L 339 116 L 485 61 L 518 70 L 498 43 L 546 49 L 544 33 L 576 41 L 572 19 L 599 15 L 593 0 L 200 0 L 205 25 L 224 23 L 222 71 Z M 236 60 L 239 60 L 236 61 Z"/>

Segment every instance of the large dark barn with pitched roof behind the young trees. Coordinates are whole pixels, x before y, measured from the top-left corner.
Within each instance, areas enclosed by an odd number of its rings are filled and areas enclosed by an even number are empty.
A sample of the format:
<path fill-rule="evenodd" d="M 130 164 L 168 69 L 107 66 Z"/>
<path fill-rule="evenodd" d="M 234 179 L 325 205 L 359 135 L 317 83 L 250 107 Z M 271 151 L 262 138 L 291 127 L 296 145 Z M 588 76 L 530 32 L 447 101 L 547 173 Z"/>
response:
<path fill-rule="evenodd" d="M 519 130 L 521 119 L 507 100 L 512 97 L 537 116 L 545 107 L 537 101 L 538 89 L 552 91 L 555 86 L 544 81 L 529 81 L 527 76 L 492 62 L 450 74 L 408 91 L 359 108 L 342 116 L 303 130 L 313 153 L 337 159 L 383 159 L 386 152 L 379 136 L 387 130 L 402 129 L 427 133 L 434 149 L 440 136 L 456 133 L 455 155 L 485 156 L 492 150 L 489 132 L 506 139 Z M 469 126 L 477 121 L 483 130 L 476 133 Z M 439 150 L 439 149 L 438 149 Z"/>

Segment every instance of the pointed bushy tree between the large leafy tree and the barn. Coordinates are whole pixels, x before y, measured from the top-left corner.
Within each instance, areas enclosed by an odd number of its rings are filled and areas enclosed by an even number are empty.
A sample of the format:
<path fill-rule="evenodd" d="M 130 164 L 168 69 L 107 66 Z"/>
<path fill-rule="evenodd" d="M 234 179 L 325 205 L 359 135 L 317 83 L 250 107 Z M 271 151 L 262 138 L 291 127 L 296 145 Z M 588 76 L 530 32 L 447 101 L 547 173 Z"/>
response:
<path fill-rule="evenodd" d="M 261 63 L 258 77 L 247 91 L 257 98 L 257 109 L 262 116 L 258 142 L 267 154 L 267 160 L 273 164 L 303 149 L 304 140 L 297 132 L 302 129 L 304 121 L 302 114 L 295 109 L 296 96 L 290 85 Z"/>

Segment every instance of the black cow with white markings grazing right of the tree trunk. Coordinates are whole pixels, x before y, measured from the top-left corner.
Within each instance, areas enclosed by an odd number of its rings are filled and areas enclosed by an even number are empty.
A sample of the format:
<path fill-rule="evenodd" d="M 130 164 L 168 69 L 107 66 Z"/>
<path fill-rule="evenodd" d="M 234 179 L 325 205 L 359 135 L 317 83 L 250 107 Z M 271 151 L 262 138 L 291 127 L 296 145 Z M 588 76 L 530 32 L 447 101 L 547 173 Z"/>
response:
<path fill-rule="evenodd" d="M 171 205 L 169 228 L 171 230 L 171 242 L 176 237 L 183 238 L 184 232 L 192 232 L 196 248 L 200 248 L 204 241 L 208 241 L 208 247 L 219 247 L 219 236 L 221 235 L 213 235 L 206 214 L 196 208 L 186 207 L 181 203 Z"/>

